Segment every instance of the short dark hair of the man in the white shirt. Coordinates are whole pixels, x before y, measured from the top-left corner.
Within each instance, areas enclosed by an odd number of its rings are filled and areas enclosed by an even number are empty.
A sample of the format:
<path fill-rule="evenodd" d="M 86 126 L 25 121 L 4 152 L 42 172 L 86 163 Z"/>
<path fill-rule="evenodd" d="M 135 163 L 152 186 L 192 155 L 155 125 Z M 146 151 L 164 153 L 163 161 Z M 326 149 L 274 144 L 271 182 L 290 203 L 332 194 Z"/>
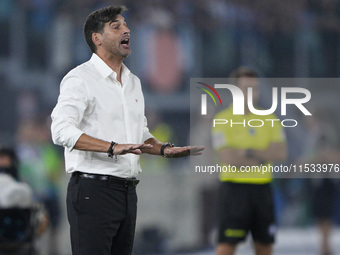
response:
<path fill-rule="evenodd" d="M 117 15 L 122 14 L 125 11 L 127 11 L 125 6 L 108 6 L 94 11 L 87 16 L 84 24 L 84 36 L 87 45 L 93 53 L 97 51 L 97 47 L 92 41 L 92 34 L 102 33 L 105 23 L 115 20 Z"/>

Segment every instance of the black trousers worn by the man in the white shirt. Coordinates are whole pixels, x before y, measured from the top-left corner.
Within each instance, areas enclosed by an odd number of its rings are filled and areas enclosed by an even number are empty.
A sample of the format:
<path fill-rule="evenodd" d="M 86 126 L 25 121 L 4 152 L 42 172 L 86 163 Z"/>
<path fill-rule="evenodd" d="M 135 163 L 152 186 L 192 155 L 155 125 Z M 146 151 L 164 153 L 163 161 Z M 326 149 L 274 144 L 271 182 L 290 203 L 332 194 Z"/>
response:
<path fill-rule="evenodd" d="M 130 255 L 136 226 L 135 186 L 71 177 L 67 215 L 73 255 Z"/>

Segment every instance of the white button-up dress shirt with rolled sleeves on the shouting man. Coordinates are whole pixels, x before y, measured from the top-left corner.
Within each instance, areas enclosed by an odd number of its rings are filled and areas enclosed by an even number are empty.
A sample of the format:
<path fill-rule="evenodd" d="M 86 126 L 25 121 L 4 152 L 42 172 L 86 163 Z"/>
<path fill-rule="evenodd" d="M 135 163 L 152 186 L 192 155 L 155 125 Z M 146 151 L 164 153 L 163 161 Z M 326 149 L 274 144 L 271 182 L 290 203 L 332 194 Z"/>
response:
<path fill-rule="evenodd" d="M 58 103 L 52 112 L 52 139 L 65 147 L 66 172 L 135 177 L 141 172 L 139 156 L 73 149 L 79 137 L 89 136 L 120 144 L 143 143 L 153 137 L 144 116 L 144 97 L 137 76 L 123 64 L 121 80 L 96 54 L 71 70 L 61 81 Z"/>

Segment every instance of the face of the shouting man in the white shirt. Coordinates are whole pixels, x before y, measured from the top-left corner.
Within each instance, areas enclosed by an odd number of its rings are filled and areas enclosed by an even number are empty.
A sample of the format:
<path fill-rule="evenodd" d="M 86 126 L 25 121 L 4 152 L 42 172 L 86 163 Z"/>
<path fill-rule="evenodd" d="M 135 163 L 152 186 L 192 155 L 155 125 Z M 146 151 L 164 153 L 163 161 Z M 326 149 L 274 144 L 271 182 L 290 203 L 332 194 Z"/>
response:
<path fill-rule="evenodd" d="M 130 30 L 122 15 L 105 24 L 101 46 L 110 55 L 123 59 L 131 54 Z"/>

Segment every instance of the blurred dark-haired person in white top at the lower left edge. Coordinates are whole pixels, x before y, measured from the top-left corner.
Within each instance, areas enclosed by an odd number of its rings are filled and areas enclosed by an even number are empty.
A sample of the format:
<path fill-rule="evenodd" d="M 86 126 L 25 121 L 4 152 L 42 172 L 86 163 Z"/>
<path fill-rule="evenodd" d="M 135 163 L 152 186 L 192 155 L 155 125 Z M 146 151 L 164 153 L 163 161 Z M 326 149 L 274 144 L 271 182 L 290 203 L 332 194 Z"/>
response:
<path fill-rule="evenodd" d="M 11 148 L 0 148 L 0 211 L 1 209 L 13 209 L 10 214 L 2 214 L 3 217 L 10 218 L 25 217 L 26 211 L 20 211 L 20 209 L 28 209 L 31 212 L 33 220 L 30 220 L 26 226 L 23 222 L 20 225 L 16 225 L 18 218 L 11 222 L 6 220 L 6 224 L 1 222 L 1 243 L 0 243 L 0 253 L 1 254 L 29 254 L 38 255 L 39 251 L 36 249 L 35 238 L 43 234 L 48 226 L 49 219 L 44 210 L 44 207 L 37 203 L 33 197 L 33 191 L 29 185 L 19 180 L 19 159 L 15 151 Z M 16 210 L 16 211 L 15 211 Z M 1 218 L 2 220 L 3 218 Z M 12 225 L 8 225 L 11 224 Z M 27 229 L 22 229 L 23 227 Z M 8 229 L 10 228 L 10 230 Z M 16 229 L 19 228 L 19 229 Z M 28 230 L 32 229 L 32 231 Z M 7 233 L 10 231 L 11 233 Z M 18 231 L 18 234 L 15 234 Z M 10 237 L 10 243 L 6 244 L 4 240 Z M 27 235 L 27 236 L 25 236 Z M 23 245 L 23 240 L 27 238 L 30 242 L 28 246 Z M 17 244 L 15 242 L 18 242 Z M 4 252 L 4 253 L 2 253 Z M 7 253 L 8 252 L 8 253 Z"/>

